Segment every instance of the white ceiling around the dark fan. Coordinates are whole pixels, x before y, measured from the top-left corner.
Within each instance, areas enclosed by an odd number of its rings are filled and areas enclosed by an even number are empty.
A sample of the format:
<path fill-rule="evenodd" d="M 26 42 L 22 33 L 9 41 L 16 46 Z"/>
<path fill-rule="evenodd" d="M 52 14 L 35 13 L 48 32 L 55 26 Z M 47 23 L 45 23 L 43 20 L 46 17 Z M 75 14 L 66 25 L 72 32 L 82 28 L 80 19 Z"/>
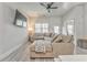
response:
<path fill-rule="evenodd" d="M 23 11 L 28 15 L 39 17 L 39 15 L 63 15 L 66 13 L 70 8 L 79 4 L 79 2 L 55 2 L 53 6 L 58 6 L 58 9 L 51 10 L 52 12 L 48 13 L 47 10 L 42 7 L 39 2 L 7 2 L 8 6 L 12 7 L 13 9 L 19 9 Z"/>

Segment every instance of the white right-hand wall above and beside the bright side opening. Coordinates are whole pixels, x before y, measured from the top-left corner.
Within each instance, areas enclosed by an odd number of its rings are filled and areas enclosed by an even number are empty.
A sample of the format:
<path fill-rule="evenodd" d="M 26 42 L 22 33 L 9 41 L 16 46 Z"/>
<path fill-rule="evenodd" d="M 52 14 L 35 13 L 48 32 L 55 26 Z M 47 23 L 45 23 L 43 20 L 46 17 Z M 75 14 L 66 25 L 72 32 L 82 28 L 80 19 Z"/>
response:
<path fill-rule="evenodd" d="M 75 20 L 75 35 L 76 37 L 84 36 L 84 15 L 83 6 L 77 6 L 70 9 L 64 17 L 63 22 Z"/>

